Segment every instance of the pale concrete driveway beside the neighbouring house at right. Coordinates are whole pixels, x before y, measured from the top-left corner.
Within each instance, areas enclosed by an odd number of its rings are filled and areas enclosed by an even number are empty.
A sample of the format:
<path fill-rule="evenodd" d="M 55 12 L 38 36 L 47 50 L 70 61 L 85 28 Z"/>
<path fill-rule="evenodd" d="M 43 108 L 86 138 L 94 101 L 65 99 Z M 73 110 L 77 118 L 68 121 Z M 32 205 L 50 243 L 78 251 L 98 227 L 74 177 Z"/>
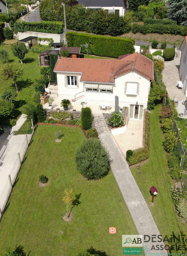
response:
<path fill-rule="evenodd" d="M 176 58 L 175 60 L 165 61 L 164 63 L 164 70 L 162 72 L 163 75 L 163 82 L 166 85 L 166 89 L 168 91 L 168 95 L 171 99 L 178 100 L 178 107 L 177 112 L 184 114 L 184 105 L 182 102 L 186 100 L 186 96 L 184 94 L 184 88 L 178 89 L 176 87 L 177 81 L 180 81 L 179 77 L 179 66 L 180 66 L 180 59 L 181 59 L 181 51 L 176 51 Z M 187 118 L 187 115 L 183 118 Z"/>

